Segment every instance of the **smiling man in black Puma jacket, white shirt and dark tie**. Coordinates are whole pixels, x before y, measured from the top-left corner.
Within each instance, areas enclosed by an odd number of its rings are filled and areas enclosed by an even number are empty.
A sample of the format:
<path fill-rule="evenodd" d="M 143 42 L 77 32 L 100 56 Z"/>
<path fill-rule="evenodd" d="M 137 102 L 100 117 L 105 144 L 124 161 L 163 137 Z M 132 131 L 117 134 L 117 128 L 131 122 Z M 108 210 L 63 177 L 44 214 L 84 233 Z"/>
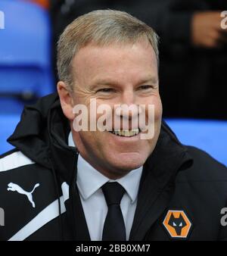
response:
<path fill-rule="evenodd" d="M 2 240 L 227 237 L 226 167 L 162 122 L 157 67 L 157 35 L 135 17 L 93 11 L 70 23 L 58 95 L 24 109 L 0 159 Z"/>

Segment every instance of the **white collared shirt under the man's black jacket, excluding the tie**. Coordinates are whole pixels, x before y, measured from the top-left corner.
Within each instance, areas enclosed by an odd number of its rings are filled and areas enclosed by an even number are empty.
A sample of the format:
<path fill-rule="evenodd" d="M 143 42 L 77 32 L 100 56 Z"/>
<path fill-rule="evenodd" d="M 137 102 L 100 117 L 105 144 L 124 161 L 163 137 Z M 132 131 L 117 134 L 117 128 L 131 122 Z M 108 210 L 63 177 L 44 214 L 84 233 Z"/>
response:
<path fill-rule="evenodd" d="M 70 133 L 68 144 L 75 146 L 72 133 Z M 92 241 L 101 241 L 104 220 L 108 210 L 101 186 L 104 183 L 113 181 L 120 183 L 126 190 L 120 202 L 120 208 L 126 226 L 126 239 L 129 240 L 137 204 L 141 173 L 142 167 L 139 167 L 138 169 L 131 170 L 126 176 L 118 180 L 110 180 L 107 176 L 95 170 L 81 155 L 78 156 L 76 183 Z"/>

